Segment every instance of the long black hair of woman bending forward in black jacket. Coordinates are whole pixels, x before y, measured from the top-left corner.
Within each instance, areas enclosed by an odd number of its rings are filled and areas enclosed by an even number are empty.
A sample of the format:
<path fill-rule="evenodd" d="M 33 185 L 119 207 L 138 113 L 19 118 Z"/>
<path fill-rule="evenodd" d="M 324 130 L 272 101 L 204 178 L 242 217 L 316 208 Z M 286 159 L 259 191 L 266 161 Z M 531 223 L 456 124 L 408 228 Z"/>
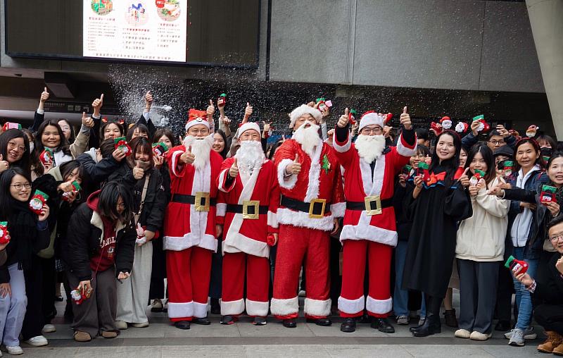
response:
<path fill-rule="evenodd" d="M 131 192 L 132 190 L 116 181 L 106 183 L 100 192 L 98 213 L 111 220 L 120 220 L 127 225 L 132 221 L 134 214 Z M 122 214 L 118 213 L 119 198 L 123 200 L 124 210 Z"/>

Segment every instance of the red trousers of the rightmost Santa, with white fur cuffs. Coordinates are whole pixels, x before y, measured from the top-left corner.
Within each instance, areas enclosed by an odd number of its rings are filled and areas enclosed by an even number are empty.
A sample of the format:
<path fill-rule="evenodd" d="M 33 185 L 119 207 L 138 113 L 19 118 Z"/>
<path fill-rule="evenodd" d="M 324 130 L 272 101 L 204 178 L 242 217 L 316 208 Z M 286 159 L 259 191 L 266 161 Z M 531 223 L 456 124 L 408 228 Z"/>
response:
<path fill-rule="evenodd" d="M 339 297 L 341 317 L 370 316 L 385 318 L 393 307 L 390 276 L 393 247 L 369 240 L 344 240 L 342 291 Z M 369 258 L 369 294 L 364 299 L 366 257 Z"/>

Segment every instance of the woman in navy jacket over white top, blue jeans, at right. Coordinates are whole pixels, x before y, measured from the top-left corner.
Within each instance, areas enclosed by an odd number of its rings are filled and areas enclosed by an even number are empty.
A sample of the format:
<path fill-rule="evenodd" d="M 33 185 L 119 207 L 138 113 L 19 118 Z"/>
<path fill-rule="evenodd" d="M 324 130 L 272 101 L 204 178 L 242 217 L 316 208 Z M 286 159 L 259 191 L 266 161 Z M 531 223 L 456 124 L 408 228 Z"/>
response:
<path fill-rule="evenodd" d="M 510 178 L 510 185 L 514 189 L 536 192 L 538 186 L 548 182 L 548 176 L 543 169 L 544 163 L 538 142 L 531 138 L 522 138 L 514 147 L 514 153 L 516 161 L 514 162 L 514 173 Z M 511 200 L 508 214 L 510 240 L 507 240 L 507 252 L 516 259 L 524 259 L 529 264 L 530 275 L 534 276 L 538 269 L 540 252 L 543 247 L 543 238 L 538 238 L 541 223 L 538 214 L 542 208 L 538 208 L 535 200 L 529 202 L 512 200 L 510 191 L 501 191 L 500 187 L 494 193 Z M 533 309 L 530 292 L 516 278 L 514 278 L 514 290 L 516 291 L 518 319 L 514 329 L 506 333 L 505 337 L 510 339 L 510 345 L 522 346 L 524 340 L 536 338 L 536 333 L 530 326 Z"/>

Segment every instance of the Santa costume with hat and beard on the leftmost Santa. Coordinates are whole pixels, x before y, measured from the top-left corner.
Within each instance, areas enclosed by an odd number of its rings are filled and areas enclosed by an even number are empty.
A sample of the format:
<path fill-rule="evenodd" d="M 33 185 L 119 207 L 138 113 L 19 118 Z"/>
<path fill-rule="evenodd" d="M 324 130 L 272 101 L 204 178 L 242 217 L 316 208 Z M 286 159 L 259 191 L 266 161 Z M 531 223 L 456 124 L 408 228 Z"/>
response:
<path fill-rule="evenodd" d="M 209 128 L 205 111 L 190 109 L 186 132 L 194 125 Z M 165 216 L 163 248 L 167 250 L 168 316 L 189 328 L 189 321 L 209 324 L 207 302 L 211 254 L 217 250 L 215 212 L 217 178 L 222 157 L 211 149 L 213 135 L 187 135 L 184 144 L 170 149 L 172 199 Z M 182 154 L 194 154 L 184 163 Z M 186 323 L 186 321 L 188 323 Z"/>

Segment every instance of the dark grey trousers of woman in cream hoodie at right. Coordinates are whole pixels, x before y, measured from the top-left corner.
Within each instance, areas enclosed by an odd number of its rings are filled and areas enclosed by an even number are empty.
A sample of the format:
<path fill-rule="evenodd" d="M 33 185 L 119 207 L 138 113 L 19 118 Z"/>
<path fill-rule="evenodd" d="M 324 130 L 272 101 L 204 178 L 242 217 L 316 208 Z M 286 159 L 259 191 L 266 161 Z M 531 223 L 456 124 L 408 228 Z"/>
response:
<path fill-rule="evenodd" d="M 500 261 L 457 259 L 460 271 L 460 328 L 469 332 L 491 333 L 499 264 Z"/>

